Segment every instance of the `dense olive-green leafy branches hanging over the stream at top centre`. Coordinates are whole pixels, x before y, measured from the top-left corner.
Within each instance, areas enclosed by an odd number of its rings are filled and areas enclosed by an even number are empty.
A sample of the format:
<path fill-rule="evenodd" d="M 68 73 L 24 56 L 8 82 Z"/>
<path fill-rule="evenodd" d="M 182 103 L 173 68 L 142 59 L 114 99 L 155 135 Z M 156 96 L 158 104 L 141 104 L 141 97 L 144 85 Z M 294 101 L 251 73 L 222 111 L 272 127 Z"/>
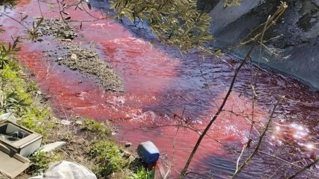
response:
<path fill-rule="evenodd" d="M 199 48 L 212 39 L 211 18 L 197 10 L 196 1 L 189 0 L 113 0 L 117 17 L 128 17 L 134 24 L 147 22 L 158 38 L 184 52 Z"/>

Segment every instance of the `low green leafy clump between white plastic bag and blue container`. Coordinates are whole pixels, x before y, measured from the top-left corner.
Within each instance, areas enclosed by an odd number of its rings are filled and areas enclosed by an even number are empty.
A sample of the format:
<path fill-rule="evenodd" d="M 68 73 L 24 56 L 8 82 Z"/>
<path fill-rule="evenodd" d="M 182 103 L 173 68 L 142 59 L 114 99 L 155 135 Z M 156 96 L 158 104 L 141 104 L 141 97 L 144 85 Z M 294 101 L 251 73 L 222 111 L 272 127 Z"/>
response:
<path fill-rule="evenodd" d="M 113 172 L 118 172 L 129 165 L 129 160 L 122 158 L 120 148 L 111 141 L 99 141 L 95 143 L 89 154 L 96 160 L 97 165 L 93 172 L 104 178 Z"/>

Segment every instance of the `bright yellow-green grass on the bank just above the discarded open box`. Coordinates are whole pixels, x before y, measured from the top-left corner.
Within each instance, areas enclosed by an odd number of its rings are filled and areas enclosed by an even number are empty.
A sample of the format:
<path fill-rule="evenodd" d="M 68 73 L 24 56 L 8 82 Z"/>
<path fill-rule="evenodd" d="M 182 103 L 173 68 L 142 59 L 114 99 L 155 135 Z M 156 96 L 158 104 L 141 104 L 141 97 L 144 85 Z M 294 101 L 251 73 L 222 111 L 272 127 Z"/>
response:
<path fill-rule="evenodd" d="M 24 78 L 21 72 L 14 59 L 9 59 L 4 68 L 0 69 L 0 95 L 4 97 L 3 102 L 7 103 L 1 106 L 1 113 L 13 112 L 23 126 L 42 134 L 46 141 L 50 126 L 44 126 L 43 121 L 48 119 L 50 111 L 47 107 L 35 105 L 34 98 L 39 88 L 36 82 Z M 10 100 L 5 100 L 8 97 Z"/>

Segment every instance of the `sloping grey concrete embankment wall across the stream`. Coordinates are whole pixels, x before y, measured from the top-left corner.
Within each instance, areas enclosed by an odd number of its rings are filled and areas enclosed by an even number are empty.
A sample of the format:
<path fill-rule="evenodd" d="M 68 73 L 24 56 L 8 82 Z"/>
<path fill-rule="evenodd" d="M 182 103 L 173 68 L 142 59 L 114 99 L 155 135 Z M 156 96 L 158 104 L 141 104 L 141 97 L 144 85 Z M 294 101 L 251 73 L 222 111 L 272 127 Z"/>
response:
<path fill-rule="evenodd" d="M 278 0 L 243 0 L 240 7 L 224 8 L 223 0 L 215 0 L 211 7 L 211 31 L 216 47 L 239 44 L 251 29 L 263 23 L 280 4 Z M 309 86 L 319 89 L 319 0 L 286 0 L 288 9 L 280 21 L 265 34 L 266 45 L 281 49 L 280 56 L 274 56 L 263 48 L 262 57 L 255 50 L 255 61 L 293 75 Z M 245 55 L 245 47 L 234 52 Z"/>

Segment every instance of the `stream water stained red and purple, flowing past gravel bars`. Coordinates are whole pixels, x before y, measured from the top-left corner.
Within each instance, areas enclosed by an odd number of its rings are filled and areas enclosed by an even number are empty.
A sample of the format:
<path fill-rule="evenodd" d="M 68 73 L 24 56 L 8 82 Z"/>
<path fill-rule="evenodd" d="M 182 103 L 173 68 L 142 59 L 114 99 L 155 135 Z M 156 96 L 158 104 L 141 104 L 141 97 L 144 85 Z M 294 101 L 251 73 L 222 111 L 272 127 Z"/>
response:
<path fill-rule="evenodd" d="M 19 19 L 18 12 L 21 11 L 29 15 L 28 20 L 41 15 L 36 1 L 22 1 L 8 15 Z M 41 11 L 47 18 L 60 16 L 54 3 L 41 2 Z M 124 92 L 106 91 L 80 72 L 49 60 L 48 54 L 43 52 L 60 45 L 53 37 L 44 38 L 43 42 L 24 41 L 17 59 L 30 69 L 41 91 L 50 96 L 57 114 L 112 120 L 120 126 L 116 139 L 130 141 L 135 146 L 142 141 L 153 141 L 161 151 L 161 157 L 168 156 L 164 161 L 169 163 L 174 159 L 172 177 L 177 176 L 199 134 L 188 128 L 178 128 L 174 114 L 183 116 L 184 122 L 202 131 L 225 97 L 234 68 L 219 59 L 203 60 L 196 53 L 180 55 L 169 47 L 156 47 L 113 20 L 87 21 L 92 20 L 92 16 L 100 18 L 100 10 L 87 14 L 70 9 L 68 13 L 73 20 L 83 21 L 81 29 L 80 22 L 72 22 L 82 36 L 75 41 L 95 46 L 100 58 L 121 76 Z M 25 29 L 19 23 L 6 17 L 1 17 L 0 22 L 6 29 L 1 41 L 10 41 L 11 35 L 26 37 Z M 233 59 L 224 57 L 237 66 L 238 62 Z M 251 131 L 256 138 L 256 131 L 261 126 L 259 122 L 268 120 L 278 100 L 274 96 L 278 95 L 285 95 L 287 100 L 276 111 L 274 120 L 277 123 L 271 126 L 271 135 L 263 146 L 265 151 L 278 150 L 284 144 L 301 148 L 305 153 L 318 151 L 317 92 L 297 80 L 261 70 L 256 88 L 262 93 L 258 94 L 253 107 L 249 84 L 250 67 L 244 66 L 225 111 L 212 125 L 191 163 L 190 168 L 194 171 L 212 171 L 214 178 L 229 178 L 235 170 L 238 152 L 248 141 Z M 252 116 L 256 128 L 251 128 Z M 266 157 L 257 158 L 253 163 L 254 168 L 249 167 L 239 178 L 260 178 L 281 166 L 280 162 L 272 162 Z M 269 170 L 265 171 L 264 166 Z"/>

